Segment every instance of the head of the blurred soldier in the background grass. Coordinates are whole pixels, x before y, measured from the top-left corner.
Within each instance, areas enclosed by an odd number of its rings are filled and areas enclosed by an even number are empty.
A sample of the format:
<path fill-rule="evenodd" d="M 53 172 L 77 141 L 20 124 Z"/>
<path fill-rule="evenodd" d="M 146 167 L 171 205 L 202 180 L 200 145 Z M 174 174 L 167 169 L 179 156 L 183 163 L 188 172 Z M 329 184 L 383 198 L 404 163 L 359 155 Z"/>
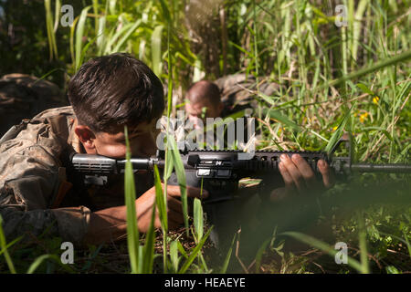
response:
<path fill-rule="evenodd" d="M 185 95 L 185 111 L 194 122 L 196 119 L 220 117 L 223 109 L 220 91 L 213 82 L 198 81 Z"/>

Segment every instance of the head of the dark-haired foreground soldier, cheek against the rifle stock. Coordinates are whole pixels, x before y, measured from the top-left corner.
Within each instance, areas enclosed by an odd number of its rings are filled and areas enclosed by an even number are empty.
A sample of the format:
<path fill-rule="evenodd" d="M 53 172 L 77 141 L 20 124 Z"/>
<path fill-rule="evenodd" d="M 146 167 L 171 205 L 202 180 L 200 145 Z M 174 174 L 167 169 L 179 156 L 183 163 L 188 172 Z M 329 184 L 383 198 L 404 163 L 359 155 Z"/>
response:
<path fill-rule="evenodd" d="M 142 61 L 122 53 L 91 59 L 70 79 L 68 99 L 77 118 L 75 132 L 88 153 L 124 157 L 124 126 L 133 155 L 155 153 L 163 85 Z"/>

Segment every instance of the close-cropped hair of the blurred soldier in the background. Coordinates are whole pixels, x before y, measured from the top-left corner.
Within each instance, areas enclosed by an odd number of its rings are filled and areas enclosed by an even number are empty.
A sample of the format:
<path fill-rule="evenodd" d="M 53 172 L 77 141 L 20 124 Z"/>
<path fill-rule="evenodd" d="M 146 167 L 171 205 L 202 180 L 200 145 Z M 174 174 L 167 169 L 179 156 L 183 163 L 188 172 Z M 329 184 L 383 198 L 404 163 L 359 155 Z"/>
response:
<path fill-rule="evenodd" d="M 221 101 L 220 90 L 215 83 L 208 80 L 195 82 L 195 84 L 188 89 L 186 98 L 193 103 L 207 99 L 215 107 Z"/>

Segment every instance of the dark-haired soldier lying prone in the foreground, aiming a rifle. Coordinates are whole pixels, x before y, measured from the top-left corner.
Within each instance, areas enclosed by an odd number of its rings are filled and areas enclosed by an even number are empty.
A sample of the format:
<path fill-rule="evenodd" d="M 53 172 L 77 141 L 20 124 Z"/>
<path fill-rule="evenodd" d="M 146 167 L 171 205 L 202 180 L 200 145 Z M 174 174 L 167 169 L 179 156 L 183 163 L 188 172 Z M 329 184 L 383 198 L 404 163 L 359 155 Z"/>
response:
<path fill-rule="evenodd" d="M 69 153 L 125 157 L 124 126 L 133 157 L 156 151 L 155 128 L 164 109 L 163 86 L 142 61 L 128 54 L 96 57 L 68 84 L 71 106 L 46 110 L 25 121 L 0 144 L 0 214 L 8 240 L 18 235 L 59 235 L 76 245 L 100 244 L 126 235 L 123 180 L 113 177 L 101 189 L 86 188 L 69 168 Z M 319 161 L 323 186 L 332 185 Z M 279 170 L 285 190 L 303 192 L 316 183 L 299 155 L 284 155 Z M 138 228 L 148 230 L 155 189 L 150 173 L 136 175 Z M 189 197 L 200 190 L 187 186 Z M 208 193 L 203 193 L 207 197 Z M 167 187 L 167 216 L 173 229 L 183 223 L 179 186 Z M 277 196 L 273 195 L 275 200 Z M 154 221 L 160 227 L 158 214 Z"/>

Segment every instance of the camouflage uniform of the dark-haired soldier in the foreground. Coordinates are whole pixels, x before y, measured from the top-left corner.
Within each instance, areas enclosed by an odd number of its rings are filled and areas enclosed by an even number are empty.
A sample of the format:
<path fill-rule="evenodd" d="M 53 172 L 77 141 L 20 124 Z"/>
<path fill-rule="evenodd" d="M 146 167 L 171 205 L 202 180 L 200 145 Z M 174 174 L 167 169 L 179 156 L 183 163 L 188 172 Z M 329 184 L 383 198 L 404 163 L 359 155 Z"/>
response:
<path fill-rule="evenodd" d="M 80 245 L 90 212 L 124 204 L 116 185 L 122 185 L 121 177 L 107 188 L 89 189 L 71 172 L 69 153 L 85 152 L 75 122 L 71 107 L 45 110 L 0 142 L 0 214 L 8 241 L 47 231 Z M 151 178 L 149 173 L 136 178 L 137 194 L 153 185 Z"/>

